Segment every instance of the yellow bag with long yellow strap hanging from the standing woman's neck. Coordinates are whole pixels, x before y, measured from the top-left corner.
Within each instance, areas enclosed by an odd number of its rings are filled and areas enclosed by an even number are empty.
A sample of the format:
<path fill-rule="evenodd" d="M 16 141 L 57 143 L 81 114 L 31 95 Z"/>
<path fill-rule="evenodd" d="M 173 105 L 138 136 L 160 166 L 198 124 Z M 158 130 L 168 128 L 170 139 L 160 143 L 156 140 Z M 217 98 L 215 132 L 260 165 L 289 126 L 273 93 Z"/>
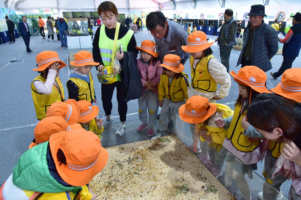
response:
<path fill-rule="evenodd" d="M 116 82 L 117 80 L 116 74 L 113 72 L 113 63 L 115 61 L 119 28 L 120 28 L 120 23 L 117 22 L 115 36 L 114 36 L 114 43 L 113 43 L 113 54 L 112 54 L 111 65 L 103 66 L 103 69 L 97 72 L 97 78 L 100 83 L 111 84 Z"/>

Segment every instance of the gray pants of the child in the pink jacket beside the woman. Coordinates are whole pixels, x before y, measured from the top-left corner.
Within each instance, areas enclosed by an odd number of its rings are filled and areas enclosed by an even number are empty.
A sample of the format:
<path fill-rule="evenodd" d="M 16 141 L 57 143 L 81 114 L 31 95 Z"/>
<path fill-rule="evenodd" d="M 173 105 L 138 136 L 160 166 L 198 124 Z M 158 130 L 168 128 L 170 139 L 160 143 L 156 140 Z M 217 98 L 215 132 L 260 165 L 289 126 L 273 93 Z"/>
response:
<path fill-rule="evenodd" d="M 154 128 L 157 123 L 157 114 L 159 108 L 158 96 L 152 90 L 146 90 L 145 93 L 138 98 L 139 119 L 143 125 L 147 123 L 148 111 L 148 127 Z"/>

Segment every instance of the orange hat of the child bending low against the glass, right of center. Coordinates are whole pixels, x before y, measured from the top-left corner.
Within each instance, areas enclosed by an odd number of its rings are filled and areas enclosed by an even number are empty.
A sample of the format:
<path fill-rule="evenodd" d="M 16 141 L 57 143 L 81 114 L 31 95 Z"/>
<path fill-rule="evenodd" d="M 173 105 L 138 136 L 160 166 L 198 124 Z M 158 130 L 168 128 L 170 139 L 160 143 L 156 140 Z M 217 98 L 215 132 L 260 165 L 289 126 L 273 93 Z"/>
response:
<path fill-rule="evenodd" d="M 196 95 L 190 97 L 186 104 L 179 108 L 179 116 L 185 122 L 199 124 L 211 117 L 216 110 L 215 104 L 209 103 L 205 97 Z"/>

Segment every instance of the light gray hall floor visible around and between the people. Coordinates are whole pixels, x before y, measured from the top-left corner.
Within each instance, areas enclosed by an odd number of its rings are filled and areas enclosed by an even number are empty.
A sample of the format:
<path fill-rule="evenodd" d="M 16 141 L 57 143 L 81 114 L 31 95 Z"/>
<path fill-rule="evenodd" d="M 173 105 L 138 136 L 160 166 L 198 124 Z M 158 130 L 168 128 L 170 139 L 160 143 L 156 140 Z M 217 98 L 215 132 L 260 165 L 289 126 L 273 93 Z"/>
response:
<path fill-rule="evenodd" d="M 56 36 L 55 36 L 56 38 Z M 208 36 L 209 39 L 214 40 L 216 36 Z M 147 31 L 138 32 L 135 34 L 137 46 L 140 46 L 143 40 L 153 40 L 153 36 L 148 35 Z M 22 38 L 16 39 L 15 44 L 2 44 L 0 45 L 0 80 L 2 85 L 1 98 L 0 98 L 0 184 L 2 184 L 7 177 L 13 172 L 14 166 L 16 165 L 18 158 L 28 149 L 29 144 L 34 138 L 34 127 L 36 123 L 36 113 L 34 104 L 31 96 L 30 84 L 32 80 L 38 75 L 37 72 L 32 71 L 36 68 L 36 56 L 41 51 L 52 50 L 58 52 L 60 59 L 67 63 L 67 48 L 61 48 L 61 43 L 58 41 L 47 41 L 42 40 L 40 36 L 31 37 L 31 49 L 32 53 L 27 53 L 26 47 Z M 219 49 L 217 46 L 212 46 L 214 51 L 213 55 L 220 60 Z M 233 50 L 230 57 L 230 71 L 238 71 L 240 68 L 235 67 L 240 51 Z M 278 70 L 282 62 L 282 56 L 276 55 L 272 59 L 272 72 Z M 297 57 L 293 63 L 293 67 L 300 67 L 301 59 Z M 60 70 L 60 78 L 62 83 L 66 83 L 68 75 L 72 70 L 65 67 Z M 93 77 L 96 77 L 96 70 L 92 69 Z M 184 72 L 190 77 L 190 66 L 187 62 L 185 64 Z M 267 87 L 273 88 L 279 82 L 280 78 L 273 80 L 269 75 L 270 71 L 267 72 Z M 234 101 L 238 95 L 238 85 L 232 79 L 232 86 L 229 96 L 218 103 L 224 103 L 234 108 Z M 100 95 L 100 83 L 94 78 L 95 92 L 98 98 L 97 105 L 99 106 L 99 116 L 104 115 L 101 104 Z M 65 96 L 68 96 L 67 87 L 65 87 Z M 115 96 L 115 94 L 114 94 Z M 115 129 L 116 123 L 119 121 L 117 111 L 117 101 L 113 98 L 113 124 L 108 127 L 103 133 L 103 145 L 113 146 L 138 140 L 149 139 L 146 136 L 146 132 L 137 133 L 135 129 L 140 125 L 138 120 L 138 107 L 137 100 L 131 100 L 128 102 L 127 111 L 127 128 L 124 136 L 116 136 Z M 185 128 L 183 133 L 187 133 L 187 138 L 191 139 L 190 131 Z M 192 143 L 192 140 L 186 140 L 187 144 Z M 258 170 L 255 172 L 261 175 L 262 164 L 258 164 Z M 223 176 L 222 176 L 223 177 Z M 222 178 L 219 178 L 222 181 Z M 261 190 L 262 183 L 258 184 L 256 178 L 248 180 L 249 186 L 252 191 L 252 196 L 256 199 L 257 192 Z M 287 195 L 291 181 L 286 181 L 282 186 L 283 193 Z M 237 191 L 237 198 L 240 198 L 240 192 Z"/>

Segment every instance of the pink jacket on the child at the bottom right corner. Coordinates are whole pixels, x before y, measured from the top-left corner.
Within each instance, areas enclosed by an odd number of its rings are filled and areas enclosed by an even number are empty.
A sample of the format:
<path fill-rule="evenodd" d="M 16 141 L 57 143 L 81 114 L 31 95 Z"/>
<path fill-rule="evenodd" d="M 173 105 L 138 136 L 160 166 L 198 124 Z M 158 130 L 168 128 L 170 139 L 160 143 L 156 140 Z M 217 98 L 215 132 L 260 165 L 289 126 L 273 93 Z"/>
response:
<path fill-rule="evenodd" d="M 295 189 L 296 193 L 301 196 L 301 167 L 289 160 L 285 160 L 280 155 L 276 161 L 276 168 L 273 172 L 273 177 L 276 173 L 285 174 L 285 169 L 290 169 L 295 172 L 295 178 L 291 185 Z"/>

